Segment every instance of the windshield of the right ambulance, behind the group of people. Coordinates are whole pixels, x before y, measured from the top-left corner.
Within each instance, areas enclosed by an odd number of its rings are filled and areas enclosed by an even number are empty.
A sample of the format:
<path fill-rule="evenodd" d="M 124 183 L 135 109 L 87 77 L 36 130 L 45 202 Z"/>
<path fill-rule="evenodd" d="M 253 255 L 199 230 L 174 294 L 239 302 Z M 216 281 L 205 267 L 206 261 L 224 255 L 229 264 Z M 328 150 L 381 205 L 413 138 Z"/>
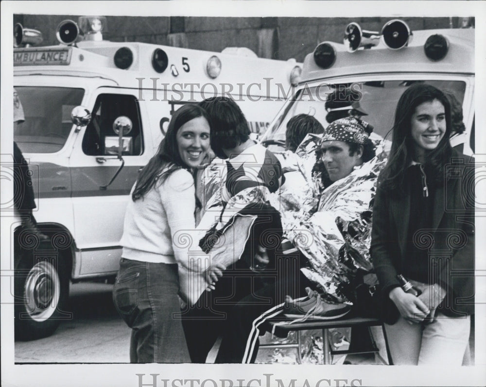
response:
<path fill-rule="evenodd" d="M 355 115 L 371 124 L 373 132 L 385 137 L 393 127 L 395 109 L 401 94 L 410 85 L 425 82 L 444 91 L 456 105 L 462 106 L 466 91 L 464 81 L 365 81 L 305 86 L 280 112 L 272 128 L 260 138 L 272 151 L 282 151 L 287 122 L 297 114 L 313 115 L 324 128 L 330 122 Z M 391 133 L 386 137 L 391 140 Z"/>

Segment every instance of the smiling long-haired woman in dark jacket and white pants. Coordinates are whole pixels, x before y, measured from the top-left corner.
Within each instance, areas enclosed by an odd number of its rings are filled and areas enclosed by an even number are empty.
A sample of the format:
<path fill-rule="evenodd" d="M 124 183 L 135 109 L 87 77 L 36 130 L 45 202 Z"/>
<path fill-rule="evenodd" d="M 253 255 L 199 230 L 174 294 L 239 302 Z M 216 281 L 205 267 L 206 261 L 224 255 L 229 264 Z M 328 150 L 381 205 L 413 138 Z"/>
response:
<path fill-rule="evenodd" d="M 394 364 L 461 365 L 468 348 L 474 188 L 467 176 L 474 164 L 451 148 L 450 134 L 451 108 L 440 90 L 417 83 L 402 94 L 378 180 L 371 242 Z M 456 270 L 471 273 L 454 276 Z"/>

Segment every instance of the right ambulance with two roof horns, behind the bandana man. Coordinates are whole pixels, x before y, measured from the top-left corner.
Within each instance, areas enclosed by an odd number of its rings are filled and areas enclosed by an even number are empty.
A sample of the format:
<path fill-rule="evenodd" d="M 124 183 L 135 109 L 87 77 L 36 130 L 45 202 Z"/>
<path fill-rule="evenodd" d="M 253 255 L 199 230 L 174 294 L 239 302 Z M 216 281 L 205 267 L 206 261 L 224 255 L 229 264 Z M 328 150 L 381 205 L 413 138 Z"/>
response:
<path fill-rule="evenodd" d="M 312 114 L 326 127 L 338 113 L 353 109 L 375 134 L 391 140 L 399 97 L 410 85 L 425 82 L 447 94 L 459 121 L 462 113 L 464 125 L 457 125 L 451 145 L 471 155 L 474 74 L 474 29 L 412 31 L 393 19 L 375 32 L 350 23 L 343 44 L 325 41 L 306 56 L 295 94 L 287 96 L 261 141 L 282 150 L 287 122 L 296 114 Z"/>

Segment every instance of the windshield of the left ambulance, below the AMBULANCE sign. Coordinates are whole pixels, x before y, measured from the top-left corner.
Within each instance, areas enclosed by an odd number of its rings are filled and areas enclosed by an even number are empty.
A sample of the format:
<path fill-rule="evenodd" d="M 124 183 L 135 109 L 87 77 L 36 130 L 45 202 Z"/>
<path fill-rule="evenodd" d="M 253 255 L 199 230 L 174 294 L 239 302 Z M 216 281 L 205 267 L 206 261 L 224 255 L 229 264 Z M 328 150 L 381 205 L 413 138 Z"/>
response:
<path fill-rule="evenodd" d="M 62 149 L 73 128 L 71 110 L 81 105 L 85 91 L 67 87 L 15 86 L 24 121 L 14 124 L 14 141 L 24 153 L 54 153 Z"/>

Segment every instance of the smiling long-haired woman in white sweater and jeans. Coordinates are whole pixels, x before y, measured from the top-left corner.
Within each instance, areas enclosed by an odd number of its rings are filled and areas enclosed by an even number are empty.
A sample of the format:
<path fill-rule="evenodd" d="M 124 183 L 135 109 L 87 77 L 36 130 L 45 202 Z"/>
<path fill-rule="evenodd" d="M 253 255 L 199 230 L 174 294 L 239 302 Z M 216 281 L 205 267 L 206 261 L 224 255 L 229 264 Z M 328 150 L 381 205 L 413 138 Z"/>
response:
<path fill-rule="evenodd" d="M 189 266 L 188 247 L 176 233 L 193 230 L 193 169 L 209 149 L 206 112 L 177 110 L 158 151 L 140 172 L 123 226 L 115 306 L 132 328 L 130 362 L 189 363 L 178 298 L 178 265 Z M 174 237 L 175 236 L 175 237 Z"/>

